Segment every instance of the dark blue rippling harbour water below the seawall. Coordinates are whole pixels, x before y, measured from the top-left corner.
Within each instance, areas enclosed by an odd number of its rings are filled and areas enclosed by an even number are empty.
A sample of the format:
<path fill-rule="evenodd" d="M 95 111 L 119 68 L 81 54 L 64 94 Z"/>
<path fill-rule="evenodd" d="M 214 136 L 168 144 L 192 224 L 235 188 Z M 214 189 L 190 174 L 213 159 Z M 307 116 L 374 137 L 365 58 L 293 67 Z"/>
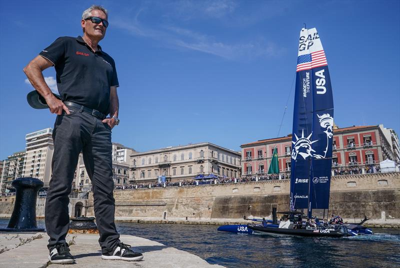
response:
<path fill-rule="evenodd" d="M 8 219 L 0 219 L 5 227 Z M 38 226 L 44 226 L 38 220 Z M 345 238 L 273 237 L 216 231 L 217 225 L 117 222 L 120 233 L 155 240 L 226 267 L 400 267 L 400 229 Z"/>

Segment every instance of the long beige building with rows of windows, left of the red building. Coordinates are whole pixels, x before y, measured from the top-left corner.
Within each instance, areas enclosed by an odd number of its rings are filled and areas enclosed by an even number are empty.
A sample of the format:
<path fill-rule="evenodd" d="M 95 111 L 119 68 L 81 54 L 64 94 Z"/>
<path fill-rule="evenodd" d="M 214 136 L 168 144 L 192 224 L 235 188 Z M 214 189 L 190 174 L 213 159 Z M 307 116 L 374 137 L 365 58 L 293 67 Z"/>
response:
<path fill-rule="evenodd" d="M 168 181 L 192 179 L 198 174 L 219 177 L 240 175 L 240 153 L 203 142 L 138 152 L 130 155 L 134 183 L 155 182 L 159 175 Z"/>

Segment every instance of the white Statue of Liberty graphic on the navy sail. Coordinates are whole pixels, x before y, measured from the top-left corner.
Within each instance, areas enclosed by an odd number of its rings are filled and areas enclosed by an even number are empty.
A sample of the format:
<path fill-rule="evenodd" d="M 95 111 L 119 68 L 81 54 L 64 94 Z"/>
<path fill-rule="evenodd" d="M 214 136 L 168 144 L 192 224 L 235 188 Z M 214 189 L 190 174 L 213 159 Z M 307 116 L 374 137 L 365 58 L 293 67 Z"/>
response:
<path fill-rule="evenodd" d="M 317 153 L 312 148 L 312 143 L 317 142 L 318 139 L 313 141 L 310 140 L 312 132 L 307 137 L 304 137 L 304 129 L 302 129 L 301 137 L 298 137 L 294 133 L 294 137 L 296 140 L 291 141 L 293 143 L 291 158 L 293 158 L 294 160 L 297 159 L 298 155 L 300 155 L 303 159 L 306 159 L 308 156 L 314 158 L 326 157 L 329 142 L 332 143 L 331 140 L 333 137 L 333 117 L 330 116 L 329 113 L 324 113 L 322 115 L 317 114 L 317 116 L 319 119 L 319 125 L 322 129 L 324 129 L 323 132 L 326 134 L 326 144 L 324 150 L 321 153 Z"/>

